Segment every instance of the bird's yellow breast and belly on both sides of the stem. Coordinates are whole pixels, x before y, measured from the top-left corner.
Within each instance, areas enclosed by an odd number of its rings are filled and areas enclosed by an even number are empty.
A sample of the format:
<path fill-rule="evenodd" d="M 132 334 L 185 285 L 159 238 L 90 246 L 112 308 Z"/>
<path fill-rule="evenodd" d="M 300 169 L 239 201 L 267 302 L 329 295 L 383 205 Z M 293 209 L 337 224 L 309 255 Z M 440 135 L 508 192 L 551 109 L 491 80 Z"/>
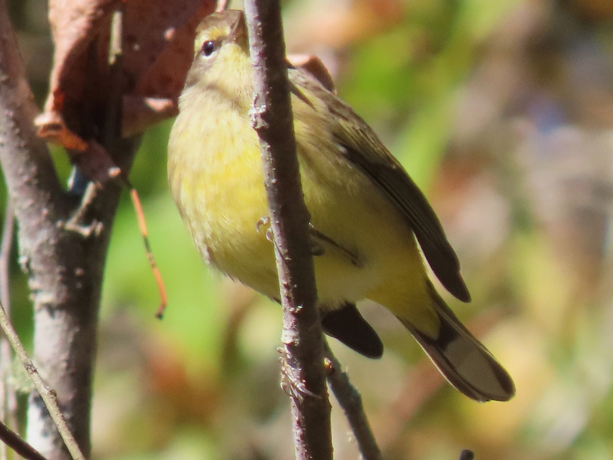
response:
<path fill-rule="evenodd" d="M 306 148 L 313 142 L 321 145 Z M 314 228 L 356 253 L 360 264 L 332 247 L 316 256 L 320 304 L 334 308 L 368 297 L 405 317 L 408 302 L 429 305 L 412 232 L 365 175 L 352 171 L 333 153 L 322 153 L 331 148 L 326 142 L 325 137 L 308 133 L 297 139 L 305 204 Z M 186 151 L 184 145 L 202 148 Z M 204 258 L 230 277 L 278 299 L 273 245 L 265 232 L 256 231 L 257 222 L 269 211 L 257 136 L 245 120 L 231 113 L 216 124 L 215 132 L 208 132 L 195 120 L 180 116 L 170 137 L 169 179 Z M 423 315 L 422 310 L 417 307 L 415 314 Z"/>

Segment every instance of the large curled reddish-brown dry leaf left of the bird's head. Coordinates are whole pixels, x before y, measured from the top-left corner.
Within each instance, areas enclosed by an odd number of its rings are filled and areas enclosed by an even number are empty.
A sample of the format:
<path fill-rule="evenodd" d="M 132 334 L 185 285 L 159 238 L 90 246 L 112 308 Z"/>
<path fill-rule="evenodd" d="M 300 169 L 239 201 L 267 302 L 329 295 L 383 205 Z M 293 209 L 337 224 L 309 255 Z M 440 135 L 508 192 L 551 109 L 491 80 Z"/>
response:
<path fill-rule="evenodd" d="M 93 148 L 104 129 L 112 92 L 109 37 L 113 12 L 123 10 L 123 132 L 134 136 L 175 115 L 193 56 L 194 30 L 213 0 L 50 0 L 55 56 L 39 136 L 74 153 Z M 102 147 L 101 147 L 102 148 Z M 80 161 L 96 177 L 107 158 Z M 90 164 L 91 162 L 91 164 Z M 87 166 L 89 165 L 89 166 Z M 84 171 L 85 173 L 85 171 Z M 93 178 L 93 176 L 89 176 Z"/>

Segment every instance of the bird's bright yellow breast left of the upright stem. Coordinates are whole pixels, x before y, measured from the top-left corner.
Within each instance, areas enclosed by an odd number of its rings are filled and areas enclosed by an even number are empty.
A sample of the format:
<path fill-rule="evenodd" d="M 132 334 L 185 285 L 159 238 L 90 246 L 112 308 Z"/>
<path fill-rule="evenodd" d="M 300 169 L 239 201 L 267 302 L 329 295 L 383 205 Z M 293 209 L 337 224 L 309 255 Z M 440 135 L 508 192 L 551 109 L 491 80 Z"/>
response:
<path fill-rule="evenodd" d="M 272 246 L 256 231 L 257 221 L 268 215 L 256 133 L 225 99 L 200 99 L 193 102 L 207 117 L 184 116 L 186 110 L 170 134 L 171 193 L 210 264 L 245 282 L 254 270 L 251 261 L 258 261 L 270 283 L 276 280 Z"/>

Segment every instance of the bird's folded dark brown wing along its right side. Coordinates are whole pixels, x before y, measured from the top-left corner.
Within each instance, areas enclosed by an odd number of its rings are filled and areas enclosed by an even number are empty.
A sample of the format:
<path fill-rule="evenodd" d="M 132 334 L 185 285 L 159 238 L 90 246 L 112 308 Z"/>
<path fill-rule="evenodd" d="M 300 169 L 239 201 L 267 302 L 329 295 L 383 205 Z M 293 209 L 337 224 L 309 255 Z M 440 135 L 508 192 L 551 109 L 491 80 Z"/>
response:
<path fill-rule="evenodd" d="M 460 275 L 459 260 L 447 241 L 443 226 L 398 160 L 389 153 L 370 126 L 335 94 L 298 69 L 290 69 L 289 78 L 292 91 L 303 101 L 308 98 L 300 93 L 299 88 L 305 88 L 324 101 L 335 120 L 333 133 L 341 155 L 345 155 L 390 197 L 413 229 L 436 277 L 455 297 L 469 302 L 470 294 Z M 351 123 L 346 120 L 351 120 Z"/>

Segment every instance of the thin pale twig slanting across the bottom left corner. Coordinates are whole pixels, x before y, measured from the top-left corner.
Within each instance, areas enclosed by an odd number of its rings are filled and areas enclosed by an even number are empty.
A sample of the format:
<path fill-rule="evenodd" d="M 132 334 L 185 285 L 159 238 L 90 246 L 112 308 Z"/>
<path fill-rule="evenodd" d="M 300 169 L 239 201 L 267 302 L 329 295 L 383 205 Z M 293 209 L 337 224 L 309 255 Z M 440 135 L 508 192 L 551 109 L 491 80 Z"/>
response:
<path fill-rule="evenodd" d="M 13 329 L 13 326 L 10 324 L 9 317 L 4 311 L 4 307 L 2 307 L 2 305 L 0 305 L 0 328 L 9 340 L 11 347 L 13 347 L 15 355 L 17 355 L 17 358 L 20 359 L 23 367 L 25 367 L 25 369 L 28 371 L 30 378 L 34 382 L 36 390 L 39 392 L 43 401 L 45 401 L 45 406 L 47 407 L 51 418 L 53 418 L 55 425 L 58 427 L 58 431 L 61 434 L 64 443 L 66 443 L 66 447 L 68 448 L 70 455 L 74 460 L 85 460 L 85 456 L 83 456 L 78 448 L 77 441 L 75 441 L 72 432 L 70 432 L 70 429 L 64 420 L 61 410 L 59 410 L 58 396 L 55 393 L 55 390 L 50 388 L 45 381 L 42 380 L 42 377 L 40 377 L 38 370 L 36 367 L 34 367 L 34 364 L 32 364 L 32 360 L 29 358 L 28 353 L 26 353 L 25 348 L 23 348 L 17 332 L 15 332 L 15 329 Z"/>

